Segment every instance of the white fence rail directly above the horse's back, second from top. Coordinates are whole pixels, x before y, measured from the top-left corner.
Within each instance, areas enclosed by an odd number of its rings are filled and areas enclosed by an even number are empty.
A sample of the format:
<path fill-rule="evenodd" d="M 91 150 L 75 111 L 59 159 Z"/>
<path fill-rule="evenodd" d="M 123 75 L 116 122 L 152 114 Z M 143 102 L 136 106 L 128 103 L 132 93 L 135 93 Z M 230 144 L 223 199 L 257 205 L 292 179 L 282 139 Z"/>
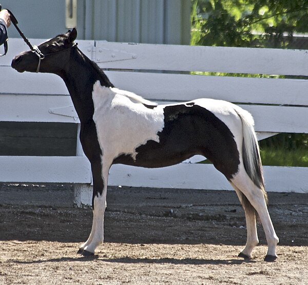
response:
<path fill-rule="evenodd" d="M 308 80 L 119 71 L 106 74 L 118 88 L 147 99 L 184 101 L 206 97 L 235 103 L 308 104 Z"/>

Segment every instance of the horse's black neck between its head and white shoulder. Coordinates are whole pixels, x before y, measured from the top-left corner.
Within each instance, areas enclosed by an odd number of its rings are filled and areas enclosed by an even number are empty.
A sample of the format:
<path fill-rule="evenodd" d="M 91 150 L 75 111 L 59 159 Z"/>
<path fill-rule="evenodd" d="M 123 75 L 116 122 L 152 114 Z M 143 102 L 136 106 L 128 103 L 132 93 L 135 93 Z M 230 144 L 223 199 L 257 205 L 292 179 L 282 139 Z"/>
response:
<path fill-rule="evenodd" d="M 80 120 L 85 122 L 92 119 L 94 112 L 92 100 L 94 83 L 99 80 L 102 86 L 113 87 L 107 76 L 95 68 L 90 59 L 79 50 L 72 55 L 68 70 L 61 77 Z"/>

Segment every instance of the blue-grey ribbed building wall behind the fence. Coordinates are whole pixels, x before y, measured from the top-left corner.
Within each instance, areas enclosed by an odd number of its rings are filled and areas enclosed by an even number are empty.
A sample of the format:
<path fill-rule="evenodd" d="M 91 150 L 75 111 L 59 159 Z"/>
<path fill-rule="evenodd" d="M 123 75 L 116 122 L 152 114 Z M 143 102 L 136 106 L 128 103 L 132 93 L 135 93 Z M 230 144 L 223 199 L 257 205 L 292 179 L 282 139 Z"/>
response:
<path fill-rule="evenodd" d="M 67 30 L 65 0 L 2 0 L 28 38 Z M 77 0 L 79 39 L 151 44 L 189 44 L 190 0 Z M 9 28 L 9 37 L 20 37 Z"/>

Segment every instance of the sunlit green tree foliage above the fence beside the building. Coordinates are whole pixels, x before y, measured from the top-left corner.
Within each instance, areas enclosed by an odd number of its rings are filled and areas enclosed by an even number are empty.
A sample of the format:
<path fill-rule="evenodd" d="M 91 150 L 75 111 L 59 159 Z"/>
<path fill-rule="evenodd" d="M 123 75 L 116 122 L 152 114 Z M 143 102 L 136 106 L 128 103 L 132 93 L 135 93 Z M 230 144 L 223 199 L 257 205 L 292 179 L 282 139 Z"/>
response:
<path fill-rule="evenodd" d="M 308 0 L 191 0 L 192 44 L 287 47 L 308 32 Z"/>

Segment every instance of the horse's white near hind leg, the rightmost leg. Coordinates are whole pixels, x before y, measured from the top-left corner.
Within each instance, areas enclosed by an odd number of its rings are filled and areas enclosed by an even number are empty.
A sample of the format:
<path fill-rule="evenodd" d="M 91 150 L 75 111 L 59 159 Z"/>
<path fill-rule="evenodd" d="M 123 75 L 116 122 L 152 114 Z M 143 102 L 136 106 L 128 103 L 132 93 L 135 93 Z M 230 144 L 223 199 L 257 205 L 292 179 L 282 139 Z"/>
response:
<path fill-rule="evenodd" d="M 234 176 L 234 178 L 231 179 L 231 182 L 243 193 L 251 205 L 256 209 L 260 217 L 268 245 L 265 261 L 274 261 L 277 258 L 276 247 L 279 239 L 276 235 L 271 217 L 269 216 L 267 210 L 264 192 L 254 184 L 243 167 L 241 167 L 240 171 Z M 250 229 L 250 231 L 252 231 L 252 229 Z"/>

